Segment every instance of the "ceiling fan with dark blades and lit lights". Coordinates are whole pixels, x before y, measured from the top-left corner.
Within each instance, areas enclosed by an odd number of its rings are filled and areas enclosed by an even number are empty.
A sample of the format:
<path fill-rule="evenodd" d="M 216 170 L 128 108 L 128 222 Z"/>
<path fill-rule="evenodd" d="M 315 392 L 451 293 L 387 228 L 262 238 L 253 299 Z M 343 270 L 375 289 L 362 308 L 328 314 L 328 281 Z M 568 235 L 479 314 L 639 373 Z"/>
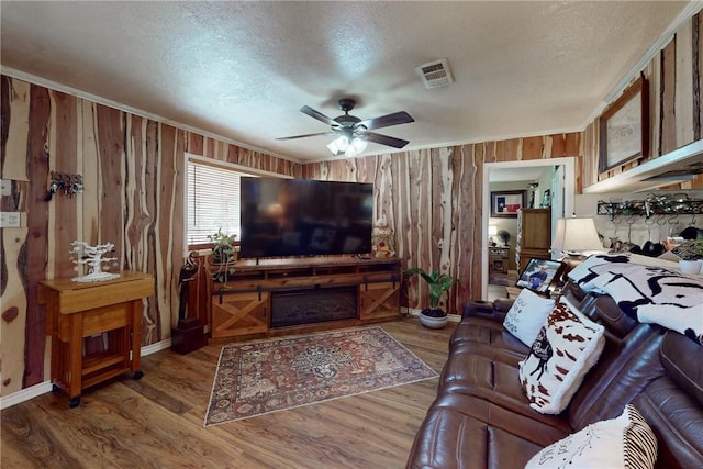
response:
<path fill-rule="evenodd" d="M 326 132 L 317 132 L 314 134 L 294 135 L 290 137 L 279 137 L 277 141 L 288 141 L 293 138 L 305 138 L 316 135 L 338 135 L 332 143 L 327 145 L 327 148 L 334 154 L 339 155 L 344 153 L 345 156 L 352 157 L 366 149 L 368 142 L 378 143 L 386 146 L 392 146 L 393 148 L 402 148 L 410 142 L 391 137 L 388 135 L 378 134 L 376 132 L 369 132 L 376 129 L 389 127 L 391 125 L 408 124 L 415 122 L 405 111 L 394 112 L 392 114 L 382 115 L 380 118 L 367 119 L 365 121 L 357 116 L 349 115 L 349 111 L 356 105 L 356 101 L 350 98 L 343 98 L 337 101 L 339 109 L 344 111 L 344 115 L 338 118 L 327 118 L 320 111 L 303 105 L 300 108 L 300 112 L 308 114 L 313 119 L 328 124 L 332 129 Z"/>

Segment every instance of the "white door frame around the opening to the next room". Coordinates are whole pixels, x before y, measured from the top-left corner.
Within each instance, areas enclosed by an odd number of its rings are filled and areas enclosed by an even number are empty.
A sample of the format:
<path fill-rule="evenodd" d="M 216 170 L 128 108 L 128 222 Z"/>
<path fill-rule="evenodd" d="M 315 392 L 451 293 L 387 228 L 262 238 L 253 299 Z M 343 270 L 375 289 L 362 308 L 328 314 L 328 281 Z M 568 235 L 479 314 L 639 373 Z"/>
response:
<path fill-rule="evenodd" d="M 491 169 L 499 168 L 534 168 L 539 166 L 563 166 L 563 213 L 553 213 L 553 224 L 555 217 L 563 217 L 565 215 L 572 214 L 573 201 L 576 198 L 576 156 L 566 156 L 561 158 L 548 158 L 548 159 L 527 159 L 518 161 L 496 161 L 483 164 L 483 211 L 481 214 L 481 298 L 488 298 L 488 221 L 491 213 L 491 188 L 490 188 L 490 175 Z M 559 216 L 557 216 L 559 215 Z M 517 236 L 515 236 L 517 238 Z"/>

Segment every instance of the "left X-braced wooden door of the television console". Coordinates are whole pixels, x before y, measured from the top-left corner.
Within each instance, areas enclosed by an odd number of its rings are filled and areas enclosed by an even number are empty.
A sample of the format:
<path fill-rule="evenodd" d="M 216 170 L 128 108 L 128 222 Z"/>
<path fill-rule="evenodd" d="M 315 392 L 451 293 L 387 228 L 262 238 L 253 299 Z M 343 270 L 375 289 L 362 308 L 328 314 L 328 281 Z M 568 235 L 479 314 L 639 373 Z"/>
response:
<path fill-rule="evenodd" d="M 268 332 L 267 291 L 214 294 L 211 304 L 214 338 Z"/>

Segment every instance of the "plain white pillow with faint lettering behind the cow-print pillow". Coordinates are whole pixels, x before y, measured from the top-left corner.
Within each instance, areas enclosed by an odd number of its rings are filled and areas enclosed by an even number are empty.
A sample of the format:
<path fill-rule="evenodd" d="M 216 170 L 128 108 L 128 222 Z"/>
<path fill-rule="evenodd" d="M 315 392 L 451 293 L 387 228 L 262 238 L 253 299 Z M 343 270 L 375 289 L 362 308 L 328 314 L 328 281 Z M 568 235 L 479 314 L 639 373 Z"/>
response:
<path fill-rule="evenodd" d="M 539 297 L 525 288 L 507 311 L 503 326 L 523 344 L 529 346 L 535 342 L 547 315 L 554 309 L 554 300 Z"/>

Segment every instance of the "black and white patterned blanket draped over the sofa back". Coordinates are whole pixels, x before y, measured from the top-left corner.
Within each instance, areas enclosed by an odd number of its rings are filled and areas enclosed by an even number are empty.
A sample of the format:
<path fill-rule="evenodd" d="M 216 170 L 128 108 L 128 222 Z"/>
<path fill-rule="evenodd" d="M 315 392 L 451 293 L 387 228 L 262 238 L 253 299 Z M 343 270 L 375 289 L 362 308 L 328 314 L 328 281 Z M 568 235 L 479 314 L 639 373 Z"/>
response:
<path fill-rule="evenodd" d="M 627 255 L 593 255 L 569 272 L 583 291 L 609 294 L 641 323 L 677 331 L 703 345 L 703 280 L 631 261 Z"/>

